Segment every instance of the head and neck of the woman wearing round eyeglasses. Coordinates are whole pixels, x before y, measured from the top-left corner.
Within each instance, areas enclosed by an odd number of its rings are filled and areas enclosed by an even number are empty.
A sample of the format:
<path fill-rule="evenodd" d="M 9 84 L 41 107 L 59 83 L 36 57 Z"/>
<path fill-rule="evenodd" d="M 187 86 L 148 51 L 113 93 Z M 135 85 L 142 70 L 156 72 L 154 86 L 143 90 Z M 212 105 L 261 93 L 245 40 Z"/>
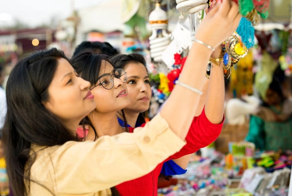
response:
<path fill-rule="evenodd" d="M 83 126 L 89 125 L 89 129 L 78 129 L 77 134 L 86 141 L 96 140 L 102 135 L 128 132 L 127 128 L 118 124 L 116 115 L 117 111 L 121 111 L 125 116 L 121 109 L 130 104 L 125 85 L 127 81 L 125 71 L 114 69 L 107 55 L 97 54 L 92 49 L 74 55 L 71 63 L 77 74 L 90 82 L 89 90 L 94 95 L 96 102 L 96 109 L 81 122 Z M 110 132 L 105 131 L 109 128 Z"/>

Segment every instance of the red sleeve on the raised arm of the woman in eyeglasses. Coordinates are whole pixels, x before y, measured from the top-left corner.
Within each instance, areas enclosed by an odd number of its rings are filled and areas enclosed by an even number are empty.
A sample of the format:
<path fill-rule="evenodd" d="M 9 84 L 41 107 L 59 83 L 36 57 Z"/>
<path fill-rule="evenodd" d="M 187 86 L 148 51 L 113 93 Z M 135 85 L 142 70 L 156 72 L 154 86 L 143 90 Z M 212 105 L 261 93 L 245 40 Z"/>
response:
<path fill-rule="evenodd" d="M 195 116 L 186 137 L 187 144 L 167 160 L 178 159 L 184 155 L 195 153 L 200 148 L 206 147 L 215 141 L 221 133 L 223 120 L 220 124 L 211 123 L 206 114 L 205 108 L 199 116 Z"/>

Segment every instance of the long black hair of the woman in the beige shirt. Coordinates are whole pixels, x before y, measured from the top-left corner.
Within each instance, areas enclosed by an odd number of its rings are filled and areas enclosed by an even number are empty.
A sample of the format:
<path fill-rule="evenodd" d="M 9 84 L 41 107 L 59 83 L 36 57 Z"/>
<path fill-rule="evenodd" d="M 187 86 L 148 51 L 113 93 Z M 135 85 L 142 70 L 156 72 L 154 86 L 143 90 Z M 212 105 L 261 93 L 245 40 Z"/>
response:
<path fill-rule="evenodd" d="M 68 60 L 55 48 L 36 52 L 20 60 L 7 81 L 3 144 L 9 183 L 15 196 L 29 191 L 29 183 L 26 187 L 24 180 L 32 181 L 29 171 L 35 156 L 30 155 L 31 144 L 54 146 L 79 141 L 43 105 L 49 98 L 48 87 L 57 70 L 58 58 Z"/>

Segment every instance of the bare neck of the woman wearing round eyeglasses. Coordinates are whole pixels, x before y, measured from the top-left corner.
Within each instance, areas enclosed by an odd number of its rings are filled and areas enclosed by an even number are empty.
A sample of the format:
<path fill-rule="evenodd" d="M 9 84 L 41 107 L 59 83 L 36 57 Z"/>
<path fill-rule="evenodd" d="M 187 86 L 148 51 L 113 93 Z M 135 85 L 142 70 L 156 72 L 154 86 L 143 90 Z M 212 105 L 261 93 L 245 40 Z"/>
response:
<path fill-rule="evenodd" d="M 122 133 L 124 129 L 119 125 L 116 112 L 111 113 L 99 113 L 93 111 L 89 115 L 90 121 L 95 128 L 98 137 L 103 135 L 113 136 Z M 93 128 L 89 126 L 87 140 L 94 140 L 95 134 Z"/>

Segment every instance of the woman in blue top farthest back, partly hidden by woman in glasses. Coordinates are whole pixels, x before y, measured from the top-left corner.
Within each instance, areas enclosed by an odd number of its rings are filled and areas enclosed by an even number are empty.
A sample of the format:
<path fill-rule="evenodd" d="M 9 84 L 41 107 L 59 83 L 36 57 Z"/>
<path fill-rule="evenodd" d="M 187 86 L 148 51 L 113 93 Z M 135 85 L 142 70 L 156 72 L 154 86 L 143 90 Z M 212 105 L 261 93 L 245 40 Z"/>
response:
<path fill-rule="evenodd" d="M 215 53 L 214 53 L 215 55 Z M 127 119 L 127 126 L 128 127 L 139 127 L 143 123 L 145 123 L 144 119 L 144 112 L 149 109 L 150 99 L 151 99 L 151 86 L 150 86 L 150 78 L 149 73 L 147 70 L 146 60 L 145 57 L 138 53 L 132 53 L 129 55 L 125 54 L 118 54 L 113 55 L 111 57 L 112 64 L 116 69 L 123 69 L 127 73 L 128 80 L 126 82 L 127 89 L 128 89 L 128 96 L 130 98 L 130 105 L 123 109 L 123 114 Z M 219 76 L 220 77 L 220 76 Z M 221 78 L 221 77 L 220 77 Z M 220 79 L 219 78 L 219 79 Z M 212 81 L 216 80 L 216 76 L 211 79 Z M 222 78 L 221 78 L 222 80 Z M 196 110 L 195 116 L 199 116 L 203 110 L 206 100 L 206 93 L 208 91 L 209 80 L 205 78 L 205 84 L 203 87 L 203 94 L 201 95 L 199 105 Z M 216 85 L 216 88 L 222 90 L 221 85 L 222 83 L 212 83 L 212 85 Z M 209 91 L 209 97 L 213 96 L 213 93 L 222 94 L 223 92 L 214 92 L 211 90 Z M 215 88 L 215 89 L 216 89 Z M 209 99 L 210 101 L 211 99 Z M 221 108 L 223 103 L 218 102 L 217 105 Z M 118 113 L 119 116 L 119 123 L 122 126 L 125 126 L 125 122 L 122 120 L 123 118 Z M 190 155 L 184 156 L 184 158 L 180 158 L 179 160 L 169 161 L 167 164 L 164 163 L 162 174 L 163 175 L 180 175 L 186 172 L 187 163 L 190 159 Z M 182 161 L 184 160 L 184 161 Z M 176 163 L 179 163 L 178 166 Z M 182 166 L 183 168 L 181 168 Z"/>

